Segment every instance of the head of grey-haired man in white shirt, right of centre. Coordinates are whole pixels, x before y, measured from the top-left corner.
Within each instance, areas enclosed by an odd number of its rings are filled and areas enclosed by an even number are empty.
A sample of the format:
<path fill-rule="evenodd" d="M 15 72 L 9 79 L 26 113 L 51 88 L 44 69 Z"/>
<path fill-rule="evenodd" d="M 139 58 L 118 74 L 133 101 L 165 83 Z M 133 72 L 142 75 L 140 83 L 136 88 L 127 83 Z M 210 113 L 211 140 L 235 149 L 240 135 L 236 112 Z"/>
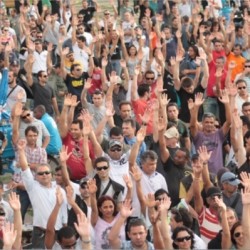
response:
<path fill-rule="evenodd" d="M 156 170 L 158 160 L 157 154 L 152 150 L 147 150 L 141 155 L 141 167 L 146 175 L 152 175 Z"/>

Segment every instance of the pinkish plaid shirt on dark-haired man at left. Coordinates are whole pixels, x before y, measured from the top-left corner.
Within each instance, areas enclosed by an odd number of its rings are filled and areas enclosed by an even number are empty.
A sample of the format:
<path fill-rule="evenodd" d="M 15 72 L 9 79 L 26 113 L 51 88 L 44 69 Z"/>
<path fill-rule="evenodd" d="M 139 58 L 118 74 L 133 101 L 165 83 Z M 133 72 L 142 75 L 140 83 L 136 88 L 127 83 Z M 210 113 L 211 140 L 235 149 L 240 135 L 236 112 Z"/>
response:
<path fill-rule="evenodd" d="M 41 147 L 36 147 L 36 148 L 30 148 L 26 147 L 25 148 L 25 156 L 27 158 L 28 164 L 30 163 L 35 163 L 35 164 L 46 164 L 47 163 L 47 153 L 44 148 Z M 15 167 L 15 172 L 12 176 L 12 180 L 21 183 L 22 182 L 22 177 L 21 177 L 21 169 L 19 164 L 19 153 L 16 151 L 16 163 L 17 166 Z"/>

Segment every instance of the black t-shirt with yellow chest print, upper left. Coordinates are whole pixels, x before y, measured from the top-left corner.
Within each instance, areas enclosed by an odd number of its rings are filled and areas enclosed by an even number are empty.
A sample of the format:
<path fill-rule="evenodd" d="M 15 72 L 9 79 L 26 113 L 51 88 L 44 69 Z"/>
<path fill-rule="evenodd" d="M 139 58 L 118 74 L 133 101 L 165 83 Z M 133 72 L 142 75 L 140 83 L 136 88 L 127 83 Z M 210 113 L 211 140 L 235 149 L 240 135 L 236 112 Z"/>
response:
<path fill-rule="evenodd" d="M 84 87 L 85 80 L 89 77 L 88 73 L 84 72 L 81 77 L 76 78 L 71 74 L 67 74 L 65 84 L 68 88 L 68 92 L 77 96 L 77 100 L 81 100 L 81 93 Z"/>

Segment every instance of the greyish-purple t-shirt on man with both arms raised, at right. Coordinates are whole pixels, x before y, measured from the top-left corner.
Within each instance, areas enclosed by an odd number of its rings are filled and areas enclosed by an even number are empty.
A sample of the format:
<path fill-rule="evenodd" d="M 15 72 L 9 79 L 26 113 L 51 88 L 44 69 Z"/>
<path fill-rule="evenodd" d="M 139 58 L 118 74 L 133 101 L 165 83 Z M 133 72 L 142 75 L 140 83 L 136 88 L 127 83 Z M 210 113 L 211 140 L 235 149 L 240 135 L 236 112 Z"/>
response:
<path fill-rule="evenodd" d="M 193 139 L 196 150 L 198 150 L 201 146 L 206 146 L 208 151 L 212 151 L 212 155 L 208 161 L 210 173 L 217 174 L 218 170 L 224 166 L 222 152 L 222 144 L 224 140 L 225 136 L 223 135 L 222 129 L 207 135 L 204 134 L 204 132 L 198 132 Z"/>

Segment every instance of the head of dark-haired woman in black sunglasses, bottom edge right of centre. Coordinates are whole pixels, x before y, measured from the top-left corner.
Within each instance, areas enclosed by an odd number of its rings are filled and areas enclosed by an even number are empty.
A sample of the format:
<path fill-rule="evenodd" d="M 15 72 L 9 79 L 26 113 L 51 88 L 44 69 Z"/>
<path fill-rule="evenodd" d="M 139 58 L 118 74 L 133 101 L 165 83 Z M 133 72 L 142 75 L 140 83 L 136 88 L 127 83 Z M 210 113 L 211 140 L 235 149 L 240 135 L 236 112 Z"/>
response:
<path fill-rule="evenodd" d="M 176 227 L 172 234 L 174 249 L 193 249 L 194 234 L 193 231 L 187 227 Z"/>

